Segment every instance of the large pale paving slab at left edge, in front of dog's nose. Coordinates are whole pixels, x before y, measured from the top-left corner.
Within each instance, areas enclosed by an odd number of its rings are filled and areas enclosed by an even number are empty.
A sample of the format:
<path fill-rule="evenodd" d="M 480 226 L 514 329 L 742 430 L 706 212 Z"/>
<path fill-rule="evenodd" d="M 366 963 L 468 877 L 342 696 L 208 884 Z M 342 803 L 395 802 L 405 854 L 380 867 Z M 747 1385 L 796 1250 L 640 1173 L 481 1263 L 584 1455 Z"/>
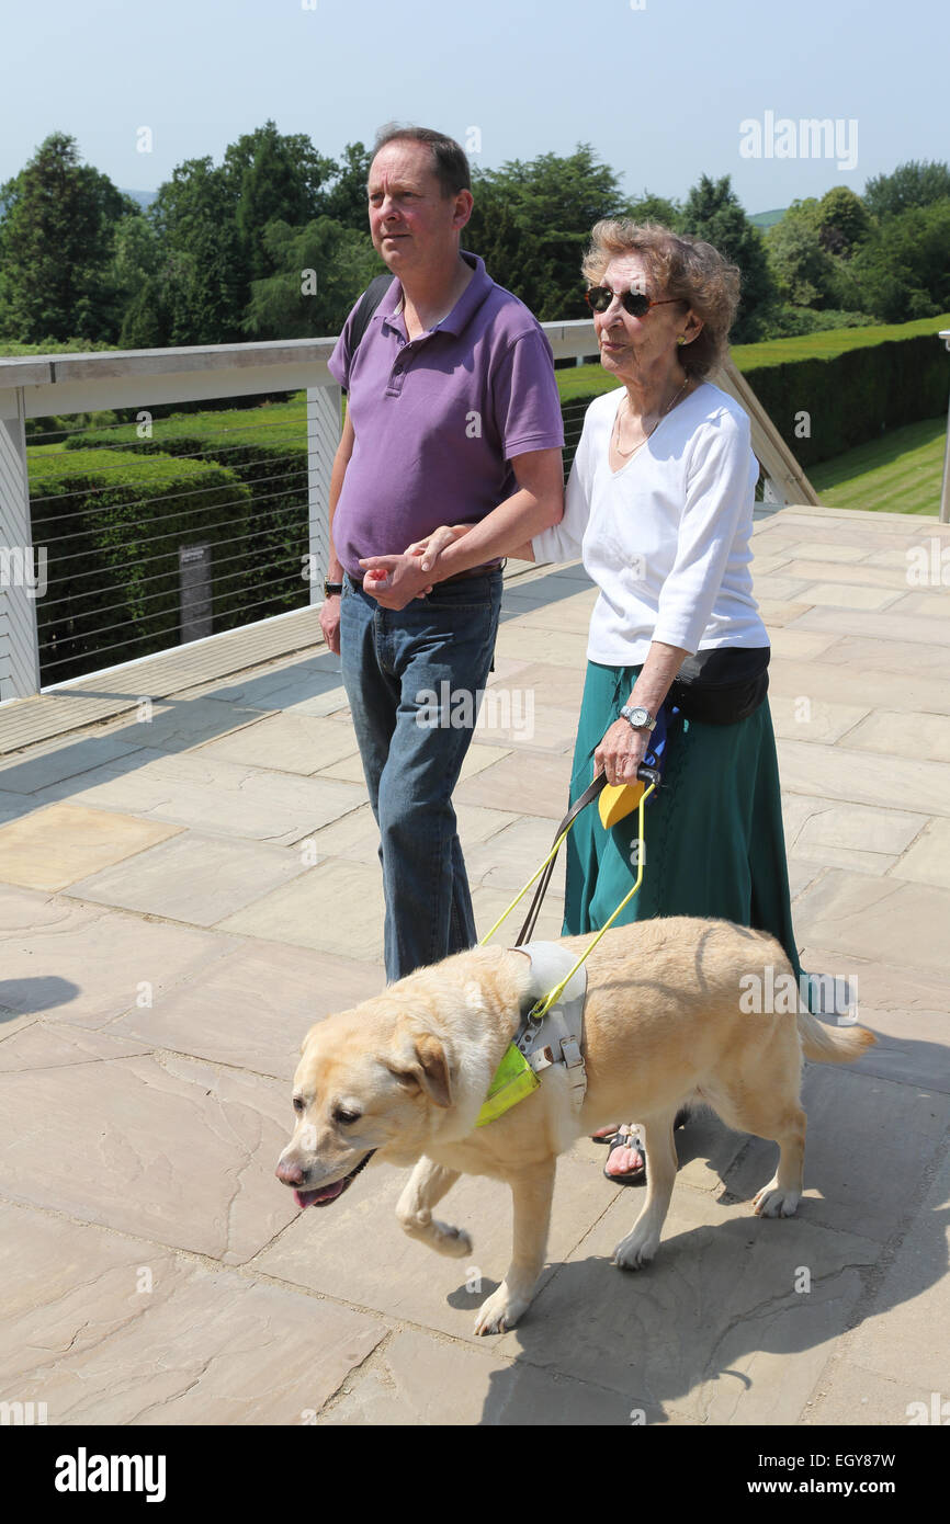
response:
<path fill-rule="evenodd" d="M 55 1044 L 55 1033 L 49 1035 Z M 294 1216 L 290 1087 L 174 1055 L 0 1074 L 0 1195 L 239 1265 Z M 50 1146 L 67 1138 L 67 1149 Z"/>

